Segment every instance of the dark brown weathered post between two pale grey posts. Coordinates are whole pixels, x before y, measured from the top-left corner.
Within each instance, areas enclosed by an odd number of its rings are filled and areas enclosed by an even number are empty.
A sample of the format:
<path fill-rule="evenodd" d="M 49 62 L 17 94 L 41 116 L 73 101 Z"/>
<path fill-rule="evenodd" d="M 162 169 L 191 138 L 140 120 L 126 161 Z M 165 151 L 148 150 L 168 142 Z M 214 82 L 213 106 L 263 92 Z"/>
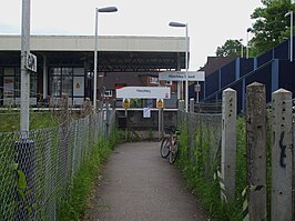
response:
<path fill-rule="evenodd" d="M 257 82 L 246 88 L 246 142 L 248 218 L 266 220 L 266 98 Z"/>

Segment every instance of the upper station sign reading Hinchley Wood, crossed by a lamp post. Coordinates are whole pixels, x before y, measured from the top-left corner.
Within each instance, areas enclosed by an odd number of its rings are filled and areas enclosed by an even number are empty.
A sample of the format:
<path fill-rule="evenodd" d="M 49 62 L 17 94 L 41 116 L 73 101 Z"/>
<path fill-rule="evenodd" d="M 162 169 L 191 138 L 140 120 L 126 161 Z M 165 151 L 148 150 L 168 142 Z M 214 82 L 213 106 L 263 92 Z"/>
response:
<path fill-rule="evenodd" d="M 159 73 L 160 81 L 185 81 L 185 71 L 166 71 Z M 205 81 L 205 71 L 187 71 L 187 81 Z"/>

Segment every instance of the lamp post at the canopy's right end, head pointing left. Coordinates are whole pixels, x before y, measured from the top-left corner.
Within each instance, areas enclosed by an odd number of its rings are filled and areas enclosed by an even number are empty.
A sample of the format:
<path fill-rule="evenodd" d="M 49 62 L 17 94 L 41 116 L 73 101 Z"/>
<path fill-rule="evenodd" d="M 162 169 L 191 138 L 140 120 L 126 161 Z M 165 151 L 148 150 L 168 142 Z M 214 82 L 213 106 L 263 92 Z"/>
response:
<path fill-rule="evenodd" d="M 187 81 L 187 69 L 189 69 L 189 24 L 180 22 L 170 22 L 170 27 L 185 28 L 185 110 L 189 110 L 189 81 Z"/>

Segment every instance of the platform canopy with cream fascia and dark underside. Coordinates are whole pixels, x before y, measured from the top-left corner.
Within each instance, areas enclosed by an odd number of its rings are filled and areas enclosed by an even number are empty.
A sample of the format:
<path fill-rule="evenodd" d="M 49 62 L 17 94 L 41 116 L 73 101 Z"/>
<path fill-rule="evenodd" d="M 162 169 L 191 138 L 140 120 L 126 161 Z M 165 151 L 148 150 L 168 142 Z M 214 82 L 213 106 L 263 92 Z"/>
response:
<path fill-rule="evenodd" d="M 20 36 L 0 36 L 0 66 L 20 63 Z M 38 66 L 84 66 L 93 69 L 93 36 L 31 36 Z M 185 68 L 185 37 L 100 36 L 102 72 L 160 71 Z"/>

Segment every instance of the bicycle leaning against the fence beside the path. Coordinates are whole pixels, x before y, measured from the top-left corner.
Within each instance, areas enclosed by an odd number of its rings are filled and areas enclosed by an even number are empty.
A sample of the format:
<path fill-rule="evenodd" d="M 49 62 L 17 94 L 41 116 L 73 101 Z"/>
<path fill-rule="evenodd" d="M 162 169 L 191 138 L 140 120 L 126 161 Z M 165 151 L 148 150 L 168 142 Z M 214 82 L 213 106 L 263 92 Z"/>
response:
<path fill-rule="evenodd" d="M 161 157 L 166 159 L 169 157 L 170 164 L 173 164 L 179 155 L 180 143 L 177 135 L 180 131 L 174 125 L 164 127 L 165 135 L 162 140 L 160 153 Z"/>

